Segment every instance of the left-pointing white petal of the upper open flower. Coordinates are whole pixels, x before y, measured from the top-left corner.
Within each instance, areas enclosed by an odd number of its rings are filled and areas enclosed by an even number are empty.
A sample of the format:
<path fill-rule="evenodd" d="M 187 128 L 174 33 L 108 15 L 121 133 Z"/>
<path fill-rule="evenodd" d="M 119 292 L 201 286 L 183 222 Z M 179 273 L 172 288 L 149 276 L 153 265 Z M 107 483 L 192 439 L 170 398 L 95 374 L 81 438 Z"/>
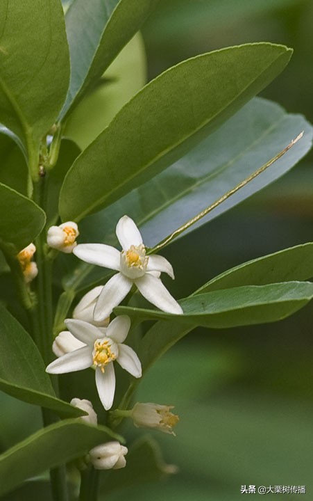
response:
<path fill-rule="evenodd" d="M 105 244 L 78 244 L 73 254 L 90 264 L 119 271 L 121 253 L 114 247 Z"/>

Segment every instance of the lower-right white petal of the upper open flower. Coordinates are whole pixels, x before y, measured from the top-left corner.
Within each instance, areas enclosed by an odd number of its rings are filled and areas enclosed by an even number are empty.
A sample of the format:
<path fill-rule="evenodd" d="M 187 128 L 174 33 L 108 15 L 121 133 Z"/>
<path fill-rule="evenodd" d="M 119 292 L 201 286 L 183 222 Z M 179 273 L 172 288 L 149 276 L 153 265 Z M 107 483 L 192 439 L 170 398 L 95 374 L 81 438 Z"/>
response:
<path fill-rule="evenodd" d="M 139 292 L 142 293 L 150 303 L 154 304 L 160 310 L 167 313 L 174 313 L 183 315 L 183 310 L 180 308 L 178 302 L 174 299 L 166 287 L 162 284 L 160 278 L 146 273 L 142 278 L 135 280 Z"/>

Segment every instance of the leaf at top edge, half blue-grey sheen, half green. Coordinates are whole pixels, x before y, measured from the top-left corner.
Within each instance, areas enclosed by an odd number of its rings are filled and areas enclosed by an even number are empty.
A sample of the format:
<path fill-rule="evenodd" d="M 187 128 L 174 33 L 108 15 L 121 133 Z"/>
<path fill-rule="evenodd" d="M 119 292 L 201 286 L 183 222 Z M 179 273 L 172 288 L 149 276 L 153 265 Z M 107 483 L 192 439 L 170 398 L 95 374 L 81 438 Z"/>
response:
<path fill-rule="evenodd" d="M 61 117 L 96 84 L 158 0 L 75 0 L 65 17 L 71 81 Z"/>

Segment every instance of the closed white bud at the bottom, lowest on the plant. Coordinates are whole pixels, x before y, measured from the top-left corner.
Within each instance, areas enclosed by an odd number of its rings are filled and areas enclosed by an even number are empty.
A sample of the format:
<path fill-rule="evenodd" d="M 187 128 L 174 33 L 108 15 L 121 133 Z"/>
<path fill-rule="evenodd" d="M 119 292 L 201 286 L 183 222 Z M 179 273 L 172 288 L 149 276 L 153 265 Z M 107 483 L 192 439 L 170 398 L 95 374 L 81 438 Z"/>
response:
<path fill-rule="evenodd" d="M 125 455 L 128 449 L 119 442 L 97 445 L 89 452 L 89 459 L 96 470 L 118 470 L 126 466 Z"/>

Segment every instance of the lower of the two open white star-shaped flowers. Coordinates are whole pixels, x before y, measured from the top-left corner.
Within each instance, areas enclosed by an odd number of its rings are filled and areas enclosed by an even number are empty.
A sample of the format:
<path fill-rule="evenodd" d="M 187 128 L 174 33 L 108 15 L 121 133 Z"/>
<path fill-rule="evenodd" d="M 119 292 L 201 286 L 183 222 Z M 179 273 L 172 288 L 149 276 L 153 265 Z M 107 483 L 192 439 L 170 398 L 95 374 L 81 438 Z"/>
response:
<path fill-rule="evenodd" d="M 126 340 L 130 319 L 126 315 L 116 317 L 108 328 L 97 328 L 83 320 L 67 319 L 69 331 L 86 346 L 71 351 L 54 360 L 46 367 L 49 374 L 75 372 L 94 366 L 96 369 L 96 388 L 103 407 L 112 407 L 115 394 L 115 371 L 112 362 L 119 365 L 135 378 L 142 375 L 142 365 L 135 351 L 122 344 Z"/>

